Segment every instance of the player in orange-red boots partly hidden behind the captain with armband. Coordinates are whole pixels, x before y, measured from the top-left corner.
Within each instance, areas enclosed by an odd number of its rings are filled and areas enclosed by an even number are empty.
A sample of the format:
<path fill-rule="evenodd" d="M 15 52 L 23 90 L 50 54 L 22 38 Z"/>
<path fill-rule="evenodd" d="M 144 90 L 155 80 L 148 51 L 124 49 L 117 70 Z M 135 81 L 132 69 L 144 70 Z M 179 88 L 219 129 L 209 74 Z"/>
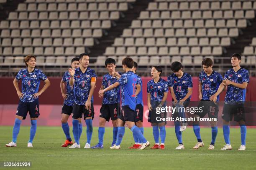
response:
<path fill-rule="evenodd" d="M 76 69 L 80 67 L 80 62 L 78 57 L 74 57 L 71 60 L 71 67 L 72 69 Z M 65 72 L 60 83 L 60 88 L 61 88 L 61 94 L 62 97 L 64 98 L 64 103 L 61 109 L 61 126 L 64 131 L 64 134 L 66 135 L 66 141 L 61 147 L 67 147 L 69 145 L 72 145 L 73 142 L 71 140 L 70 134 L 69 134 L 69 124 L 68 124 L 68 119 L 69 116 L 72 113 L 73 110 L 73 105 L 74 105 L 74 91 L 73 91 L 73 86 L 69 85 L 69 80 L 70 80 L 70 74 L 69 72 Z M 66 84 L 66 89 L 67 93 L 65 92 L 65 84 Z M 80 135 L 82 134 L 82 123 L 81 119 L 79 122 L 79 129 L 80 129 Z M 80 136 L 79 135 L 79 136 Z"/>

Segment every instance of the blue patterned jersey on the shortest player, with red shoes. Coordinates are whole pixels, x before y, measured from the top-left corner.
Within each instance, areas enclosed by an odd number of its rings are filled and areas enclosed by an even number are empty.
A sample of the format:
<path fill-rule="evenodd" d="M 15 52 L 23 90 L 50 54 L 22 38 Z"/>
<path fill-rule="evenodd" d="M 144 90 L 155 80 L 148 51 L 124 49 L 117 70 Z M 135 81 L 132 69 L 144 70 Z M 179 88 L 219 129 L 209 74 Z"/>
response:
<path fill-rule="evenodd" d="M 168 92 L 168 83 L 162 78 L 158 82 L 150 80 L 147 84 L 147 92 L 150 93 L 151 105 L 154 108 L 162 101 L 164 92 Z"/>

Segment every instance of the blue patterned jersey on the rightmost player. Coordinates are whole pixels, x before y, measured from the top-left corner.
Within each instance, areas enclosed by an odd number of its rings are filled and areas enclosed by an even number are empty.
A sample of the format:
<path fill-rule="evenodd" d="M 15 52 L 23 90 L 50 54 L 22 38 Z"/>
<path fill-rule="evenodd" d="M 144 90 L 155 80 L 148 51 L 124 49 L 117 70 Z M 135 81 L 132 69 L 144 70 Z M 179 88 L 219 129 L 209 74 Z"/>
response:
<path fill-rule="evenodd" d="M 237 72 L 233 68 L 228 70 L 224 79 L 228 79 L 232 82 L 243 84 L 243 82 L 249 83 L 249 72 L 244 68 L 240 68 Z M 246 97 L 246 89 L 241 89 L 233 85 L 228 85 L 228 90 L 225 96 L 226 104 L 243 103 Z"/>

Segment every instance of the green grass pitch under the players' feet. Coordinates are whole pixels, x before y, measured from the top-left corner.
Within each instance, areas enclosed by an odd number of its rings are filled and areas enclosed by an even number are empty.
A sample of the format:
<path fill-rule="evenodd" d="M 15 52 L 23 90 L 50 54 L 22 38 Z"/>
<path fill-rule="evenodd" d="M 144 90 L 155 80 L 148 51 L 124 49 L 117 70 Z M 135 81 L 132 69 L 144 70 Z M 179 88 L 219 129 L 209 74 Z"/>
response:
<path fill-rule="evenodd" d="M 241 145 L 240 129 L 230 129 L 230 140 L 233 150 L 220 150 L 223 147 L 222 128 L 219 128 L 215 150 L 207 150 L 211 141 L 210 128 L 201 128 L 202 140 L 205 146 L 199 150 L 192 150 L 197 140 L 192 128 L 183 133 L 184 150 L 175 150 L 177 139 L 174 128 L 167 128 L 165 150 L 131 150 L 133 144 L 132 133 L 125 129 L 125 136 L 121 143 L 121 150 L 110 150 L 112 143 L 112 128 L 106 128 L 104 149 L 84 149 L 86 128 L 81 136 L 81 149 L 61 148 L 64 133 L 61 127 L 38 127 L 33 148 L 27 148 L 29 127 L 21 127 L 16 148 L 5 147 L 11 141 L 12 127 L 0 127 L 0 162 L 22 161 L 31 162 L 29 169 L 133 169 L 133 170 L 218 170 L 218 169 L 256 169 L 256 129 L 247 129 L 246 150 L 238 151 Z M 92 145 L 97 143 L 97 127 L 94 127 Z M 70 132 L 72 133 L 72 127 Z M 145 137 L 154 144 L 151 128 L 145 128 Z M 0 168 L 1 169 L 1 168 Z M 12 168 L 7 168 L 12 169 Z M 18 168 L 19 169 L 19 168 Z M 27 169 L 27 168 L 21 168 Z"/>

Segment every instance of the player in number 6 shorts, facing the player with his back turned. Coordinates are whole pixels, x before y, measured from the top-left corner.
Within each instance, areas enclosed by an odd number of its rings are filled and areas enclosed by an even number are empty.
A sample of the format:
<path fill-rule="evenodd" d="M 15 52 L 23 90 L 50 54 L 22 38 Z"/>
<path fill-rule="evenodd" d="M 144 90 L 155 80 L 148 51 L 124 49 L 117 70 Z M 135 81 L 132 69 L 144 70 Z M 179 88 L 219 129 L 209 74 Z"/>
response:
<path fill-rule="evenodd" d="M 107 88 L 108 86 L 114 84 L 118 81 L 118 78 L 113 75 L 115 73 L 115 60 L 113 58 L 108 58 L 105 60 L 105 66 L 108 70 L 108 74 L 103 75 L 101 90 Z M 118 73 L 119 75 L 121 73 Z M 102 97 L 102 95 L 100 95 Z M 103 137 L 105 133 L 106 121 L 110 118 L 113 124 L 113 142 L 111 146 L 116 143 L 117 133 L 118 133 L 118 115 L 120 114 L 120 87 L 116 87 L 112 90 L 105 92 L 102 100 L 102 105 L 100 108 L 100 122 L 98 130 L 99 142 L 97 145 L 91 148 L 103 148 Z"/>

